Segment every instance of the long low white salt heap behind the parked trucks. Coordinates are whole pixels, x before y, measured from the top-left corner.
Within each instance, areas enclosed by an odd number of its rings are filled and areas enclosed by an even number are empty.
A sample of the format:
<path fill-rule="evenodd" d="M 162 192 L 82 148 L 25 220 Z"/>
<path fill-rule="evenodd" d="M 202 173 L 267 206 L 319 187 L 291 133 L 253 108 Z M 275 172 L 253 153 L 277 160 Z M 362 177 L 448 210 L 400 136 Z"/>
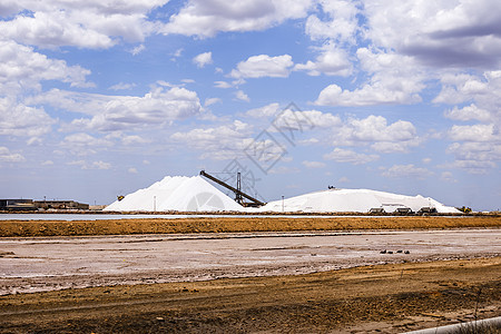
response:
<path fill-rule="evenodd" d="M 458 209 L 445 206 L 433 198 L 396 195 L 369 189 L 328 189 L 315 191 L 284 200 L 271 202 L 259 212 L 304 212 L 304 213 L 369 213 L 372 208 L 394 213 L 399 208 L 419 212 L 423 207 L 435 208 L 438 213 L 456 214 Z"/>

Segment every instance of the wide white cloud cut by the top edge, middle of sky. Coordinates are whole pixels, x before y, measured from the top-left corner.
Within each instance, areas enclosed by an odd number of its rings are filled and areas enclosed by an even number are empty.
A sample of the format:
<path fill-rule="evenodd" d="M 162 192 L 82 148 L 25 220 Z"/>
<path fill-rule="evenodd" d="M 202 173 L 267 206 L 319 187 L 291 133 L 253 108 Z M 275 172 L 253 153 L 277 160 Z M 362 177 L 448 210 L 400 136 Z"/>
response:
<path fill-rule="evenodd" d="M 190 0 L 160 28 L 163 33 L 213 37 L 219 31 L 264 30 L 287 19 L 303 18 L 312 0 Z"/>

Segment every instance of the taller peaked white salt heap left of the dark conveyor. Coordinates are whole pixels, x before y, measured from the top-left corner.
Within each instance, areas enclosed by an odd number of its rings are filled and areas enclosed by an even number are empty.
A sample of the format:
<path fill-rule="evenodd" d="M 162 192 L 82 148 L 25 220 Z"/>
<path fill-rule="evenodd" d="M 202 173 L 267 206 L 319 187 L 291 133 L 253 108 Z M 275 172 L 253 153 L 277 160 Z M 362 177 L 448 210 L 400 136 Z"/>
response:
<path fill-rule="evenodd" d="M 105 208 L 108 212 L 242 212 L 244 208 L 200 176 L 167 176 Z"/>

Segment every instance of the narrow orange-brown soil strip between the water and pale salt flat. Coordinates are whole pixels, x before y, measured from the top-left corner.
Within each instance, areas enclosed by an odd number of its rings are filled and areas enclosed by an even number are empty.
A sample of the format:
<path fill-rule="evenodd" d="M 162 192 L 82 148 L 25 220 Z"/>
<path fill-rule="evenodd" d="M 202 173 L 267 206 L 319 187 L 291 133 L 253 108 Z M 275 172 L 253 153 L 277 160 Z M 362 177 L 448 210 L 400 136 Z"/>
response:
<path fill-rule="evenodd" d="M 500 227 L 501 216 L 3 220 L 0 237 Z"/>

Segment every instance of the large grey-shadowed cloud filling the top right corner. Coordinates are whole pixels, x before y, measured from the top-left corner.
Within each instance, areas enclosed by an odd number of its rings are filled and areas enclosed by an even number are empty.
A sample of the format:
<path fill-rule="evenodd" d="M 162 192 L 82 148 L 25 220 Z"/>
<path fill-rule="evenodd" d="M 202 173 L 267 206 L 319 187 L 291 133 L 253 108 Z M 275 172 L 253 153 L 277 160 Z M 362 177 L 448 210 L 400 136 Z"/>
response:
<path fill-rule="evenodd" d="M 499 65 L 501 3 L 479 1 L 366 1 L 365 37 L 375 45 L 444 67 Z"/>

